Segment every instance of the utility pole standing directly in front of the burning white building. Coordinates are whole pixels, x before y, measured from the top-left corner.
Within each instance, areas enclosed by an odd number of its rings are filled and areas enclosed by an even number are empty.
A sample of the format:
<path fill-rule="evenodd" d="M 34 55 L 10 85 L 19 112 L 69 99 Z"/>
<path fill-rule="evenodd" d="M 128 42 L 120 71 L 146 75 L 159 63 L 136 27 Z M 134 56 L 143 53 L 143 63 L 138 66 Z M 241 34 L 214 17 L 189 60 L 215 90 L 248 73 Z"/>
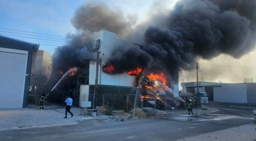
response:
<path fill-rule="evenodd" d="M 98 94 L 98 64 L 99 64 L 99 54 L 100 54 L 100 51 L 99 51 L 99 48 L 101 46 L 101 40 L 98 39 L 96 41 L 96 52 L 97 52 L 97 60 L 96 60 L 96 77 L 95 77 L 95 89 L 94 89 L 94 96 L 93 96 L 93 109 L 94 109 L 94 106 L 97 105 L 97 94 Z"/>

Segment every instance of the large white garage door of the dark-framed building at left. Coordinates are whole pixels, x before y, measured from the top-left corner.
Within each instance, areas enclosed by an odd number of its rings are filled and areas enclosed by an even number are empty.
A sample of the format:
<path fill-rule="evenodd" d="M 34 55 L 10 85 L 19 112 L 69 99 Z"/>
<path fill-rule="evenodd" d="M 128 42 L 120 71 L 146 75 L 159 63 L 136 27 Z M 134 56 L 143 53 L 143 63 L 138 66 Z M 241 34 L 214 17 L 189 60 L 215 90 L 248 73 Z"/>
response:
<path fill-rule="evenodd" d="M 0 48 L 0 108 L 22 108 L 27 51 Z"/>

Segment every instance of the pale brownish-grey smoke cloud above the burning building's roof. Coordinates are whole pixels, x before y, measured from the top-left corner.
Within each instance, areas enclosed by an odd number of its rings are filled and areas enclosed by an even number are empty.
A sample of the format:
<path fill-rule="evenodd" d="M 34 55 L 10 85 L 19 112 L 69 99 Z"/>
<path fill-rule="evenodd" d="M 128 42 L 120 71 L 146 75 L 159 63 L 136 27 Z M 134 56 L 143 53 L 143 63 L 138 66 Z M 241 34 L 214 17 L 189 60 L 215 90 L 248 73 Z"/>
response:
<path fill-rule="evenodd" d="M 75 11 L 71 23 L 77 30 L 87 31 L 90 37 L 93 32 L 102 29 L 116 33 L 122 37 L 130 31 L 130 26 L 136 20 L 129 15 L 127 20 L 120 9 L 111 10 L 107 3 L 89 1 Z"/>

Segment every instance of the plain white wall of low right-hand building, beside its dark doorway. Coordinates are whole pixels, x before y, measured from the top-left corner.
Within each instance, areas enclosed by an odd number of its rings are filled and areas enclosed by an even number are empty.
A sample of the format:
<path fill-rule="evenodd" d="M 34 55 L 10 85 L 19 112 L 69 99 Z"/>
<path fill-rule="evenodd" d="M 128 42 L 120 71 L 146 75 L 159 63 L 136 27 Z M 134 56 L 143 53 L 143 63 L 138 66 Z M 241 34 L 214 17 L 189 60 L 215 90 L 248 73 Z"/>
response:
<path fill-rule="evenodd" d="M 224 84 L 213 88 L 215 102 L 247 103 L 246 84 Z"/>

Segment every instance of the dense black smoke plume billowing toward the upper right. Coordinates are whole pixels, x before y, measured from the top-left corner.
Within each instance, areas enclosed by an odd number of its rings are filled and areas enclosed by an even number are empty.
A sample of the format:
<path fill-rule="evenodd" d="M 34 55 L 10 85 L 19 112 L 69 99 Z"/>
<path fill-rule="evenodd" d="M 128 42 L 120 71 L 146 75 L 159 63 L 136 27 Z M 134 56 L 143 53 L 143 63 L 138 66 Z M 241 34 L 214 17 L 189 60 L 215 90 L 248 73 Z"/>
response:
<path fill-rule="evenodd" d="M 170 74 L 194 68 L 199 57 L 211 59 L 227 54 L 240 58 L 255 45 L 255 3 L 181 0 L 166 17 L 165 28 L 147 28 L 142 50 L 159 59 Z"/>

